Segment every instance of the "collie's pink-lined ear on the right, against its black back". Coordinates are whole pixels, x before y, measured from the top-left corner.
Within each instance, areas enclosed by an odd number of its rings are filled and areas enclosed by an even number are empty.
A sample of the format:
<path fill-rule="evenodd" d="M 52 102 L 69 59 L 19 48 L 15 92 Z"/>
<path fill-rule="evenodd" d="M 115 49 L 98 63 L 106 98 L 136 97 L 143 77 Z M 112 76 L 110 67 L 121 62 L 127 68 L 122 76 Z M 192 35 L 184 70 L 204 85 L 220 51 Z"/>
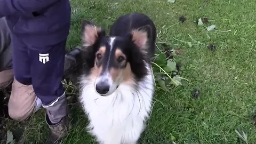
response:
<path fill-rule="evenodd" d="M 149 25 L 132 30 L 132 42 L 140 48 L 142 53 L 148 53 L 148 42 L 151 37 L 151 27 Z"/>

